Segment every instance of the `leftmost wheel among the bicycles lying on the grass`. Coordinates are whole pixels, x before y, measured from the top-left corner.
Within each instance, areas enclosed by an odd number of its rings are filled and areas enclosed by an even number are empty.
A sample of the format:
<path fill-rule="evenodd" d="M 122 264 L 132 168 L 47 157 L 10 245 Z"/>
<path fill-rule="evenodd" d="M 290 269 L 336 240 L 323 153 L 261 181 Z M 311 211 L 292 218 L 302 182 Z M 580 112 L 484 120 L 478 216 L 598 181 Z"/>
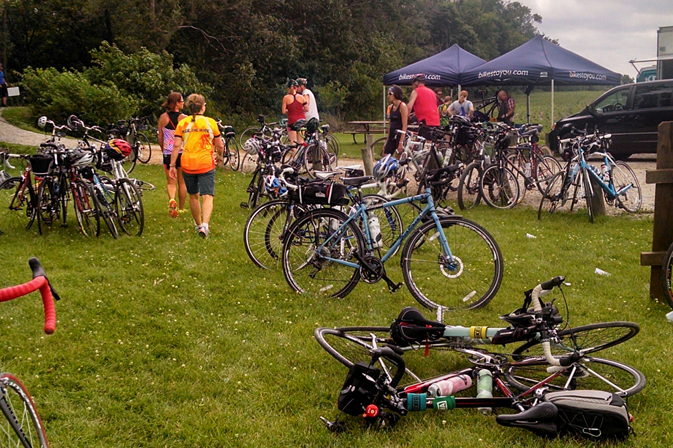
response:
<path fill-rule="evenodd" d="M 382 344 L 385 342 L 385 335 L 389 333 L 390 328 L 353 327 L 348 330 L 352 330 L 355 333 L 361 333 L 363 337 L 357 337 L 356 335 L 351 334 L 350 331 L 344 332 L 339 329 L 330 328 L 318 328 L 313 332 L 313 335 L 318 341 L 318 344 L 320 344 L 327 353 L 347 368 L 350 368 L 353 364 L 356 364 L 356 362 L 365 362 L 369 364 L 369 362 L 372 361 L 372 355 L 369 351 L 374 349 L 374 345 L 372 344 L 371 336 L 367 338 L 367 333 L 374 333 L 374 335 L 376 335 L 376 345 L 380 347 L 378 342 Z M 392 362 L 383 362 L 383 364 L 377 363 L 376 366 L 385 366 L 389 378 L 394 377 L 397 373 L 397 368 Z M 421 381 L 420 378 L 407 368 L 399 385 L 403 386 L 406 384 L 418 383 L 419 381 Z"/>

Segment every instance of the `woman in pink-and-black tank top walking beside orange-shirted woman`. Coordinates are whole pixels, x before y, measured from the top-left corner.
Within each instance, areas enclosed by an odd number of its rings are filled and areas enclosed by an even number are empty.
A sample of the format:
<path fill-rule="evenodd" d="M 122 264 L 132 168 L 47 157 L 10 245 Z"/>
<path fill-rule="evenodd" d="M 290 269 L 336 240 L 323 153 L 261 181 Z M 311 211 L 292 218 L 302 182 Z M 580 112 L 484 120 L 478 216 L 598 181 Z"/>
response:
<path fill-rule="evenodd" d="M 173 137 L 175 135 L 175 128 L 181 119 L 187 115 L 181 113 L 185 101 L 182 94 L 179 92 L 171 92 L 168 99 L 161 106 L 166 108 L 166 112 L 159 117 L 159 146 L 161 147 L 161 154 L 163 154 L 163 169 L 166 172 L 166 191 L 168 192 L 168 215 L 170 217 L 178 217 L 179 211 L 185 211 L 185 200 L 187 198 L 187 186 L 185 179 L 182 176 L 182 169 L 179 169 L 179 160 L 176 162 L 178 168 L 177 179 L 173 179 L 168 175 L 170 169 L 170 155 L 173 148 Z M 181 148 L 176 148 L 179 151 Z M 178 202 L 175 201 L 175 193 L 178 194 Z"/>

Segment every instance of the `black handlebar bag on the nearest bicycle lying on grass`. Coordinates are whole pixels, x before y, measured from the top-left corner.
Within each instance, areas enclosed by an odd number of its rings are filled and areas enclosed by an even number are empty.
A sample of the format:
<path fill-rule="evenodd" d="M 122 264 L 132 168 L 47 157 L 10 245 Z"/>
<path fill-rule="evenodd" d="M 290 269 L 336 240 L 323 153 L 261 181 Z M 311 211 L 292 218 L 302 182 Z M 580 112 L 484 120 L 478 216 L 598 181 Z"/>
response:
<path fill-rule="evenodd" d="M 376 380 L 380 373 L 378 368 L 362 361 L 350 366 L 336 401 L 339 410 L 349 415 L 362 415 L 378 394 Z"/>

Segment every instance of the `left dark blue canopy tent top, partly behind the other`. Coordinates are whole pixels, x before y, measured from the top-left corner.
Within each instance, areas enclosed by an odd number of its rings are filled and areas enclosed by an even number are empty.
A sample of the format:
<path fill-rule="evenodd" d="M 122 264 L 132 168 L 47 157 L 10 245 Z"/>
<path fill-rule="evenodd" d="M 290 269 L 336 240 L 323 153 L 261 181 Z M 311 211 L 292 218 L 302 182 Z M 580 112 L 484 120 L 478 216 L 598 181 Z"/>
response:
<path fill-rule="evenodd" d="M 460 74 L 486 62 L 453 44 L 441 53 L 414 62 L 402 69 L 391 71 L 383 77 L 383 85 L 411 85 L 411 78 L 416 73 L 424 73 L 429 86 L 457 86 Z"/>

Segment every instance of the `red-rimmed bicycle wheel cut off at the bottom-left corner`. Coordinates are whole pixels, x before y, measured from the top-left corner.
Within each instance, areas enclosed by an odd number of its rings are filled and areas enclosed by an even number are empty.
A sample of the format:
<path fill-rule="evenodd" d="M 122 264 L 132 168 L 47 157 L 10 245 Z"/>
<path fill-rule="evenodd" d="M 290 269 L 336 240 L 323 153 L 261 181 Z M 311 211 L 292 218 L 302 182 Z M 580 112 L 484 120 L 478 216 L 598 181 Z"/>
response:
<path fill-rule="evenodd" d="M 10 373 L 0 374 L 0 408 L 3 447 L 48 448 L 47 433 L 32 397 L 21 381 Z"/>

